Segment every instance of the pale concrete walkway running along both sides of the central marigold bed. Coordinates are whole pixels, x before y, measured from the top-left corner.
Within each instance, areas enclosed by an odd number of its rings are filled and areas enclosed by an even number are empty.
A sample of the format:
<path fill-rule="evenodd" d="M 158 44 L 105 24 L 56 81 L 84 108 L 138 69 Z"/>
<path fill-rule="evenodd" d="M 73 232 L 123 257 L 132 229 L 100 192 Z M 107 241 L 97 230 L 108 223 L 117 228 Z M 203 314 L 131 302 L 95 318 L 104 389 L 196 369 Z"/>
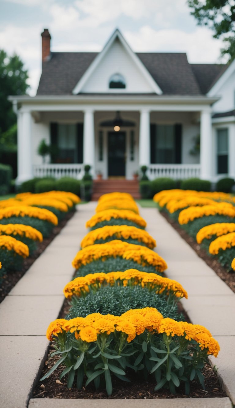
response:
<path fill-rule="evenodd" d="M 47 355 L 49 342 L 45 337 L 48 324 L 58 317 L 64 301 L 62 290 L 71 280 L 71 261 L 87 233 L 85 222 L 95 213 L 95 202 L 79 206 L 79 211 L 34 262 L 0 305 L 1 406 L 28 406 L 33 384 Z M 155 208 L 141 208 L 148 223 L 147 231 L 157 240 L 157 252 L 166 260 L 168 277 L 178 280 L 188 290 L 189 300 L 183 302 L 193 323 L 206 326 L 218 339 L 222 351 L 215 363 L 224 380 L 228 395 L 235 403 L 234 355 L 235 295 L 177 234 Z M 232 308 L 232 310 L 231 310 Z M 232 313 L 231 313 L 232 311 Z M 106 401 L 106 403 L 105 403 Z M 229 408 L 223 399 L 123 400 L 127 408 L 134 405 L 174 408 Z M 122 402 L 123 403 L 123 402 Z M 117 407 L 118 400 L 51 400 L 30 399 L 29 407 Z"/>

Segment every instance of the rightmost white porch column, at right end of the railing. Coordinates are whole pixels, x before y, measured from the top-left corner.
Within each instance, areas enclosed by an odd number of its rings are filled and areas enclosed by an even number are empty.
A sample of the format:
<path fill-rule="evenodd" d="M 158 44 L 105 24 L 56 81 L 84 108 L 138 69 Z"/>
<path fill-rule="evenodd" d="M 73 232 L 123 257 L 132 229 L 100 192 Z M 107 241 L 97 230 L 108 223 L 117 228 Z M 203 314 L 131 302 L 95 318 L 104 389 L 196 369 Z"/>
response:
<path fill-rule="evenodd" d="M 212 180 L 212 126 L 211 126 L 211 110 L 201 111 L 200 124 L 200 166 L 202 180 Z"/>

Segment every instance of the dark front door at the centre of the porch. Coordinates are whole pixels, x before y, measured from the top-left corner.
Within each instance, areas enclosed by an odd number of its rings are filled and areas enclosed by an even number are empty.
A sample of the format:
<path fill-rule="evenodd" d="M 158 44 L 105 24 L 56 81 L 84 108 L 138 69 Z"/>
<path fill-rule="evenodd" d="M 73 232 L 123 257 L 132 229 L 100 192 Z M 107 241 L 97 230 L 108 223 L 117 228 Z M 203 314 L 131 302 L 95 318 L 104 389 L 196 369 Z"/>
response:
<path fill-rule="evenodd" d="M 125 176 L 126 133 L 109 132 L 108 134 L 108 174 Z"/>

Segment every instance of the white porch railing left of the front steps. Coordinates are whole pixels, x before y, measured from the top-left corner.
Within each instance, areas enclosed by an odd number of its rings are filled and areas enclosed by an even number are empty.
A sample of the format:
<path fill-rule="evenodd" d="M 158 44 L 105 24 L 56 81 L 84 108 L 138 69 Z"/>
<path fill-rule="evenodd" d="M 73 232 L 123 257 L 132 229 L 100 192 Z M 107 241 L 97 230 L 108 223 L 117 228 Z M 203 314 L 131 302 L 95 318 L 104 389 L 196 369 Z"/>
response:
<path fill-rule="evenodd" d="M 83 164 L 35 164 L 33 166 L 34 177 L 73 177 L 81 179 L 83 176 Z"/>

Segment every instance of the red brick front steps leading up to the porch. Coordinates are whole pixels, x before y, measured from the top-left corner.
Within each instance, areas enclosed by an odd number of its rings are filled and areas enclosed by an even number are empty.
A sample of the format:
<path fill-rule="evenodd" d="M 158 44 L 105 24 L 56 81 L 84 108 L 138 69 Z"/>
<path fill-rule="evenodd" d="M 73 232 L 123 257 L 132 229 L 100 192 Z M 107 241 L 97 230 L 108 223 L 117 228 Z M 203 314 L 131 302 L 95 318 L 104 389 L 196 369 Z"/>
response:
<path fill-rule="evenodd" d="M 133 198 L 139 199 L 139 182 L 137 180 L 125 179 L 108 179 L 108 180 L 94 180 L 92 201 L 97 201 L 102 194 L 113 193 L 119 191 L 120 193 L 130 193 Z"/>

